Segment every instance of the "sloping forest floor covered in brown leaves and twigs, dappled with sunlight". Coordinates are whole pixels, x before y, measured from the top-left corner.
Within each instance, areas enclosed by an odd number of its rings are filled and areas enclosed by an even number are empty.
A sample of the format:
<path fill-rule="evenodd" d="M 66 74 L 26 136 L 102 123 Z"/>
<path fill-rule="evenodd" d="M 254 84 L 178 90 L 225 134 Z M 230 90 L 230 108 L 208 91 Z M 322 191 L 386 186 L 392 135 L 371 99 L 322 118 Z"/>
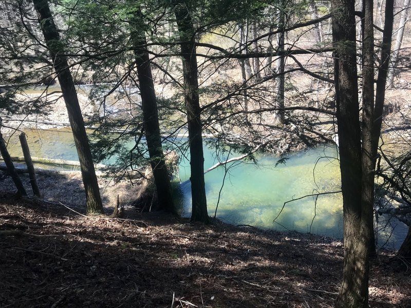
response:
<path fill-rule="evenodd" d="M 126 219 L 81 213 L 0 194 L 0 307 L 307 308 L 337 297 L 339 240 L 133 209 Z M 379 251 L 371 307 L 411 307 L 408 266 Z"/>

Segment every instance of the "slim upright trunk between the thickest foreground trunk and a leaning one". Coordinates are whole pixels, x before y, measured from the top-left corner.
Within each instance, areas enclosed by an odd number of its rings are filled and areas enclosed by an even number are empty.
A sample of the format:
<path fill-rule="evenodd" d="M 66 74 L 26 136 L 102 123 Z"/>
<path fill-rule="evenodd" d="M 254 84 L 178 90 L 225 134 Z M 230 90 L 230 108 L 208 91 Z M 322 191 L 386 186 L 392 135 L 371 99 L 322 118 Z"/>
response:
<path fill-rule="evenodd" d="M 363 0 L 362 24 L 362 223 L 368 233 L 369 253 L 376 253 L 373 226 L 374 176 L 376 157 L 373 156 L 372 132 L 374 126 L 374 28 L 373 0 Z"/>

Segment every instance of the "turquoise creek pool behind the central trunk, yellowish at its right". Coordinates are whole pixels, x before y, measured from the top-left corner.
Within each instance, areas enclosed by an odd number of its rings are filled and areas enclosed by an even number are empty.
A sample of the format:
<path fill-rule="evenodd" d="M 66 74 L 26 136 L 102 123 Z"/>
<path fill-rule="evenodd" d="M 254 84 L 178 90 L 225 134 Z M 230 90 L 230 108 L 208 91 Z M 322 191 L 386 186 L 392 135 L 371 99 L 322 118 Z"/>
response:
<path fill-rule="evenodd" d="M 206 169 L 218 162 L 210 149 L 204 156 Z M 229 158 L 232 157 L 235 155 Z M 214 215 L 218 202 L 217 218 L 232 224 L 341 237 L 341 194 L 319 196 L 316 202 L 313 197 L 307 197 L 289 202 L 283 208 L 284 203 L 292 199 L 319 192 L 339 191 L 341 180 L 336 157 L 335 147 L 319 146 L 290 155 L 285 164 L 277 166 L 278 158 L 271 155 L 257 156 L 258 165 L 230 163 L 218 201 L 226 173 L 225 167 L 219 167 L 205 175 L 209 214 Z M 220 161 L 225 160 L 227 157 L 220 158 Z M 181 181 L 188 180 L 189 176 L 190 164 L 182 161 Z M 183 182 L 182 216 L 186 217 L 191 213 L 190 189 L 190 182 Z"/>

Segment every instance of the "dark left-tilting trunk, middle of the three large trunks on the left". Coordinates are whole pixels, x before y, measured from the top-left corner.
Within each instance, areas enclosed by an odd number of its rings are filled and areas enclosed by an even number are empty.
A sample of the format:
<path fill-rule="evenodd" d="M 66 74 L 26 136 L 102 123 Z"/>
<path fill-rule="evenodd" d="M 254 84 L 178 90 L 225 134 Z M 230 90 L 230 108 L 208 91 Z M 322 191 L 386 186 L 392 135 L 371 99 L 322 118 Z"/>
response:
<path fill-rule="evenodd" d="M 145 34 L 139 29 L 144 25 L 141 12 L 138 10 L 131 20 L 130 33 L 134 55 L 137 64 L 137 75 L 140 84 L 141 107 L 145 138 L 147 141 L 150 163 L 153 170 L 154 182 L 157 188 L 159 207 L 175 213 L 170 176 L 165 165 L 161 144 L 160 126 L 158 122 L 158 109 L 156 93 L 154 91 L 153 75 L 148 58 Z"/>

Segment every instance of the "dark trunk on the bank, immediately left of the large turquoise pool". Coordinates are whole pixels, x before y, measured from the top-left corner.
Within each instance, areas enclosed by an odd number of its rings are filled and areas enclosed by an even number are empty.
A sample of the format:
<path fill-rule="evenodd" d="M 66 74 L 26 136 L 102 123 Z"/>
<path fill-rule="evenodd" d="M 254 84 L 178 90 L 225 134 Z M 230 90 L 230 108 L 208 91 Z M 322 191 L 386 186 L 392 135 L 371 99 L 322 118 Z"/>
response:
<path fill-rule="evenodd" d="M 198 93 L 197 55 L 195 31 L 190 12 L 182 0 L 173 1 L 178 30 L 184 74 L 184 98 L 187 110 L 190 143 L 192 221 L 209 223 L 206 187 L 204 183 L 204 154 L 202 149 L 201 110 Z"/>

